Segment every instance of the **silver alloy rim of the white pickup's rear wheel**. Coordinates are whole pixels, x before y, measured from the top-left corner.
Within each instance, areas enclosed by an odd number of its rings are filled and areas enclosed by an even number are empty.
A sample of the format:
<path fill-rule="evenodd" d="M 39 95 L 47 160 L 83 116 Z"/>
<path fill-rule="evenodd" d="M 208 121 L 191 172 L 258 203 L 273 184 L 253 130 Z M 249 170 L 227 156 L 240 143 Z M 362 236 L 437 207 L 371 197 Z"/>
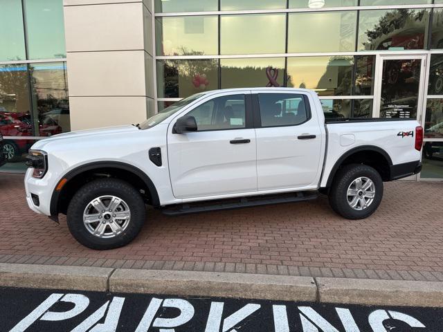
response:
<path fill-rule="evenodd" d="M 356 178 L 347 188 L 347 203 L 354 210 L 369 208 L 375 198 L 375 185 L 370 178 Z"/>

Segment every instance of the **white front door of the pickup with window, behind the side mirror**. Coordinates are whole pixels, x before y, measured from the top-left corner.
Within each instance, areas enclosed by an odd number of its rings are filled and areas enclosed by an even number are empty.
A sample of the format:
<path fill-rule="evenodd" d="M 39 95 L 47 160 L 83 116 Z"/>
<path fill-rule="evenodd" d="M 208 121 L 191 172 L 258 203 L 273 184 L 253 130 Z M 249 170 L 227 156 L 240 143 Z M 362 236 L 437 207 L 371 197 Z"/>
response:
<path fill-rule="evenodd" d="M 211 198 L 257 191 L 249 97 L 250 93 L 227 93 L 201 102 L 186 114 L 195 118 L 195 132 L 173 133 L 172 121 L 168 157 L 175 197 Z"/>

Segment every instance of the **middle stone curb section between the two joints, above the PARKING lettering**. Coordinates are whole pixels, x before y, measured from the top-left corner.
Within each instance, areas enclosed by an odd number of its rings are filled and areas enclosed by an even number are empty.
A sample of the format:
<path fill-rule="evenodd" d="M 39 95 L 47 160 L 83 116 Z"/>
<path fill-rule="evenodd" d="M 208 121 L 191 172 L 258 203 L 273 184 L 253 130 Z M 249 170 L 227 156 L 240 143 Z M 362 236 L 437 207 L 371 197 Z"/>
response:
<path fill-rule="evenodd" d="M 301 302 L 315 302 L 317 297 L 311 277 L 168 270 L 118 269 L 109 279 L 109 291 Z"/>

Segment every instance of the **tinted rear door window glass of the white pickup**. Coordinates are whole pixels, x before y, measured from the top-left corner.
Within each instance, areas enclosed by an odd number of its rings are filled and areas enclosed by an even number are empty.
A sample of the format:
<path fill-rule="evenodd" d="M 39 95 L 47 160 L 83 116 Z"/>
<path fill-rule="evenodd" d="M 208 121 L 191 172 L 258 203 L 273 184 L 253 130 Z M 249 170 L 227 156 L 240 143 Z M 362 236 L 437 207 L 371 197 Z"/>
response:
<path fill-rule="evenodd" d="M 262 127 L 296 126 L 309 118 L 303 95 L 294 93 L 260 93 Z"/>

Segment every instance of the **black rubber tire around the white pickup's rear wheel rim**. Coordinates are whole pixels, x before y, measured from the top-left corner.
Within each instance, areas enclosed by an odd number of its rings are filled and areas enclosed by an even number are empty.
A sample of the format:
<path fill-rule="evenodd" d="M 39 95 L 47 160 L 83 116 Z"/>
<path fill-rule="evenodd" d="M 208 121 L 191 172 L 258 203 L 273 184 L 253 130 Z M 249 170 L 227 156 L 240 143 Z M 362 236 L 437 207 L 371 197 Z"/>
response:
<path fill-rule="evenodd" d="M 372 203 L 367 208 L 356 210 L 361 206 L 357 206 L 355 209 L 350 206 L 347 190 L 356 179 L 362 177 L 369 178 L 372 181 L 375 194 Z M 382 198 L 383 180 L 379 172 L 367 165 L 352 164 L 339 169 L 329 190 L 329 204 L 332 210 L 350 220 L 365 219 L 373 214 L 379 207 Z M 359 205 L 361 204 L 359 203 Z"/>

